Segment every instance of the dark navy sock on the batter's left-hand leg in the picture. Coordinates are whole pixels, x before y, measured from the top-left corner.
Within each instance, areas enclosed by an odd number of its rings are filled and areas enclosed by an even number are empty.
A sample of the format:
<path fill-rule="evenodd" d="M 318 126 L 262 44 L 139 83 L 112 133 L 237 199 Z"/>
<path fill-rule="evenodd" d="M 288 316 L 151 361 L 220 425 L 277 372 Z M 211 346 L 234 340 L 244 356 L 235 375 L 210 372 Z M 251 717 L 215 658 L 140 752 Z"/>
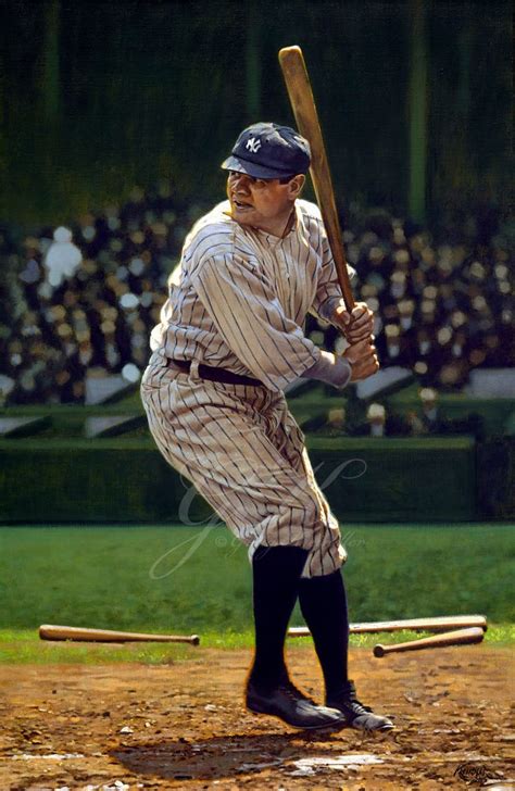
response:
<path fill-rule="evenodd" d="M 255 654 L 249 680 L 274 689 L 287 675 L 284 646 L 307 551 L 259 547 L 252 558 Z"/>

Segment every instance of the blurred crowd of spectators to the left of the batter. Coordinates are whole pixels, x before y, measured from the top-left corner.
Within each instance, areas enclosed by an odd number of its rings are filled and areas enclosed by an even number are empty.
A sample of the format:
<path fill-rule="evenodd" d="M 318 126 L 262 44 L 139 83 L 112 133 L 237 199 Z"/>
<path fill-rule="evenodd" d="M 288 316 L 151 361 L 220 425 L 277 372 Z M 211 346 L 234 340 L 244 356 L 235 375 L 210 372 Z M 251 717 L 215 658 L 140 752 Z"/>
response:
<path fill-rule="evenodd" d="M 4 230 L 3 403 L 84 402 L 87 378 L 137 382 L 168 274 L 204 209 L 180 203 L 163 181 L 147 193 L 135 188 L 124 205 L 81 216 L 72 227 L 74 246 L 60 237 L 66 229 L 45 228 L 23 240 L 21 253 Z M 66 243 L 64 265 L 59 246 Z"/>

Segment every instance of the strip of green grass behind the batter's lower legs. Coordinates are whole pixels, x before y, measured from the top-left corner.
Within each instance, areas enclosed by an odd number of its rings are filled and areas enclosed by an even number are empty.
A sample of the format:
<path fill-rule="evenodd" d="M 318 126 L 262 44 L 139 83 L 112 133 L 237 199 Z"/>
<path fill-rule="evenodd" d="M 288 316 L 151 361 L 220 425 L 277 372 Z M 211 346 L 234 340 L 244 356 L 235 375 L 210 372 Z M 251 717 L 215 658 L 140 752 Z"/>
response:
<path fill-rule="evenodd" d="M 513 641 L 513 526 L 347 525 L 342 535 L 351 620 L 482 613 L 497 625 L 488 641 Z M 247 551 L 221 526 L 3 527 L 0 598 L 4 662 L 194 656 L 183 645 L 42 644 L 43 623 L 197 632 L 208 646 L 251 644 Z M 298 612 L 292 623 L 302 624 Z"/>

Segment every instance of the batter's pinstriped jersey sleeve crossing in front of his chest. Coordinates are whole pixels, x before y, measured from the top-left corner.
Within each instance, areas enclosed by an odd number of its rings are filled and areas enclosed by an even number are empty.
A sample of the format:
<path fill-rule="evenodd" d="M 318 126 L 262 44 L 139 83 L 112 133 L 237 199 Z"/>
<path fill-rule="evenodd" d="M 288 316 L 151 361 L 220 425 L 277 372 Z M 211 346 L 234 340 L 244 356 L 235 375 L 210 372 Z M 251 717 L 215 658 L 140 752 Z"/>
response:
<path fill-rule="evenodd" d="M 261 268 L 243 256 L 204 260 L 191 284 L 225 343 L 266 387 L 284 390 L 318 361 L 319 349 L 285 315 Z"/>

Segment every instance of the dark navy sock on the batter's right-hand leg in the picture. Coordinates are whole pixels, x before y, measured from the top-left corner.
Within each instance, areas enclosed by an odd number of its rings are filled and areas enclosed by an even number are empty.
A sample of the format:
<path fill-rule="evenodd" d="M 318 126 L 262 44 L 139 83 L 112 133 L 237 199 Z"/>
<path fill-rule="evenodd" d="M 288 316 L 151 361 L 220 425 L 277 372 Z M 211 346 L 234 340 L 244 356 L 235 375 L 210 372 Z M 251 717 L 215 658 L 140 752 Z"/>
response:
<path fill-rule="evenodd" d="M 301 579 L 299 601 L 313 636 L 326 694 L 337 694 L 348 681 L 349 616 L 341 573 Z"/>

